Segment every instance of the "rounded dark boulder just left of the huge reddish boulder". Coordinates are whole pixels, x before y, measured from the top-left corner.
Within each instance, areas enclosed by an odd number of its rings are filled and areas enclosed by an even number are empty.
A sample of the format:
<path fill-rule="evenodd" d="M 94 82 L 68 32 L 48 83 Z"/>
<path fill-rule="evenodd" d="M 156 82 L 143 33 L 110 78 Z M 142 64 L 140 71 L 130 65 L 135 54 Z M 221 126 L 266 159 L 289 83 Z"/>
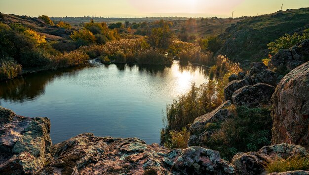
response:
<path fill-rule="evenodd" d="M 273 86 L 259 83 L 254 86 L 245 86 L 237 89 L 232 95 L 233 104 L 236 106 L 257 107 L 270 105 Z"/>

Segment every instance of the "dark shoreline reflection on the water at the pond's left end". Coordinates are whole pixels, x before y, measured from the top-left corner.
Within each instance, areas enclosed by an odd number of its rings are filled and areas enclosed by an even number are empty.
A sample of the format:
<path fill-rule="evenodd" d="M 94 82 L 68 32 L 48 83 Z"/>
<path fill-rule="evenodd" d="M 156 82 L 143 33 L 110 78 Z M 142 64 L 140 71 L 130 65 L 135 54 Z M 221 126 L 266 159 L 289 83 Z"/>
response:
<path fill-rule="evenodd" d="M 84 67 L 63 68 L 58 70 L 48 70 L 39 73 L 27 74 L 13 80 L 0 83 L 0 99 L 24 102 L 25 100 L 35 100 L 44 94 L 45 86 L 60 78 L 63 75 L 75 77 L 78 71 Z M 0 101 L 1 104 L 1 101 Z"/>

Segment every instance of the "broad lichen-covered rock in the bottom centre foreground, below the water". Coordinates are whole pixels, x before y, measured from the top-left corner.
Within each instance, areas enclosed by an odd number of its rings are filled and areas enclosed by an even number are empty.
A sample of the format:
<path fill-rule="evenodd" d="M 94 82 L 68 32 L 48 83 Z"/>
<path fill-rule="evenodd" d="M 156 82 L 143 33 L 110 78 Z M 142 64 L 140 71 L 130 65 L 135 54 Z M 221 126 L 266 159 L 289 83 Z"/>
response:
<path fill-rule="evenodd" d="M 235 174 L 217 151 L 202 147 L 168 150 L 137 138 L 80 134 L 52 148 L 52 158 L 37 174 L 192 175 Z"/>

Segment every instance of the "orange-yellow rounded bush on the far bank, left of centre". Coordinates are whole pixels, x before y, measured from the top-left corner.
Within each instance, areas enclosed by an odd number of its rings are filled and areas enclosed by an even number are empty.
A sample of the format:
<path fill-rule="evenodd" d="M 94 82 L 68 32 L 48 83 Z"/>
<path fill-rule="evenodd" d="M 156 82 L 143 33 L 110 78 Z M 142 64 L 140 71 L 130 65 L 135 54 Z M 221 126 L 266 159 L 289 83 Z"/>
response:
<path fill-rule="evenodd" d="M 77 46 L 85 46 L 95 42 L 95 36 L 87 29 L 79 29 L 71 34 L 71 38 Z"/>

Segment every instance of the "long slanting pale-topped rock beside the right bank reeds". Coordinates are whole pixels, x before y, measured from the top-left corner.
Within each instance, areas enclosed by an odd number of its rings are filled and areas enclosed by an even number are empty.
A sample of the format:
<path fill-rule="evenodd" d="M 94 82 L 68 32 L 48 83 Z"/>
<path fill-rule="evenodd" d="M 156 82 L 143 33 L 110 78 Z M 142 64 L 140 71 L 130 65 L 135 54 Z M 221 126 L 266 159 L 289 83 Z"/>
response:
<path fill-rule="evenodd" d="M 206 130 L 208 123 L 221 123 L 232 116 L 229 107 L 232 106 L 231 100 L 224 102 L 217 109 L 203 116 L 195 118 L 190 127 L 189 146 L 203 146 L 204 140 L 212 134 L 211 129 Z"/>

